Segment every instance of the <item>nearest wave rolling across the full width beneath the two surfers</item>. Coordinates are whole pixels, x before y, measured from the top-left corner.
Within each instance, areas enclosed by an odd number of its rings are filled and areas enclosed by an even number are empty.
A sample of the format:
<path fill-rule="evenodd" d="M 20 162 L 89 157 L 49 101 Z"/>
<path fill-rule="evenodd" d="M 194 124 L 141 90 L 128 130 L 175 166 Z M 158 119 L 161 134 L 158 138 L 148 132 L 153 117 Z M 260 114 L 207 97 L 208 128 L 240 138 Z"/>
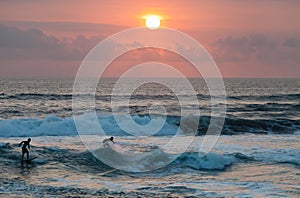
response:
<path fill-rule="evenodd" d="M 0 143 L 1 159 L 4 161 L 19 161 L 20 153 L 16 152 L 17 144 L 10 143 Z M 95 174 L 99 170 L 109 171 L 112 170 L 107 166 L 109 163 L 103 163 L 99 161 L 99 158 L 95 158 L 92 153 L 88 151 L 75 152 L 72 149 L 61 149 L 59 147 L 36 147 L 32 146 L 37 160 L 33 163 L 35 164 L 46 164 L 49 162 L 59 162 L 63 164 L 69 164 L 72 170 L 84 171 L 90 170 L 95 171 Z M 182 171 L 183 169 L 193 169 L 193 170 L 224 170 L 227 166 L 234 165 L 235 163 L 247 163 L 247 162 L 264 162 L 264 163 L 288 163 L 291 165 L 299 166 L 298 159 L 300 153 L 297 150 L 284 149 L 284 150 L 266 150 L 261 152 L 251 152 L 249 154 L 242 153 L 228 153 L 219 154 L 215 152 L 209 152 L 204 156 L 200 156 L 198 152 L 184 152 L 181 155 L 173 156 L 174 154 L 165 153 L 160 149 L 155 149 L 154 157 L 132 159 L 134 156 L 124 154 L 120 150 L 116 150 L 112 147 L 100 147 L 96 149 L 93 153 L 101 155 L 102 157 L 107 157 L 107 160 L 115 162 L 121 170 L 126 170 L 128 172 L 143 172 L 145 168 L 149 168 L 156 163 L 166 163 L 166 166 L 158 169 L 158 171 L 174 172 Z M 136 158 L 139 158 L 137 156 Z M 169 161 L 174 158 L 173 161 Z M 103 159 L 103 158 L 102 158 Z M 133 163 L 138 162 L 138 163 Z M 69 167 L 68 166 L 68 167 Z M 99 170 L 98 170 L 99 169 Z M 150 169 L 150 168 L 149 168 Z M 176 171 L 175 171 L 176 172 Z"/>

